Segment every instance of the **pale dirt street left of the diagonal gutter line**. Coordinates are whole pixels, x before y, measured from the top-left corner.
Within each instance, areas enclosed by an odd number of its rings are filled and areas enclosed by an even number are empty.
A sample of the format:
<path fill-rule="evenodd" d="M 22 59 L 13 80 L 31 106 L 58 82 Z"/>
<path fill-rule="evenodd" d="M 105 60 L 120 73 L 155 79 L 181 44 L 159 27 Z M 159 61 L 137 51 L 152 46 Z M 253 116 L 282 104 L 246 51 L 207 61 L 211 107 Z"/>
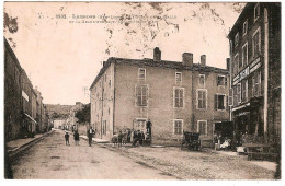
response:
<path fill-rule="evenodd" d="M 35 179 L 175 179 L 156 168 L 145 166 L 118 152 L 72 136 L 65 146 L 62 131 L 55 131 L 20 154 L 12 163 L 14 178 Z"/>

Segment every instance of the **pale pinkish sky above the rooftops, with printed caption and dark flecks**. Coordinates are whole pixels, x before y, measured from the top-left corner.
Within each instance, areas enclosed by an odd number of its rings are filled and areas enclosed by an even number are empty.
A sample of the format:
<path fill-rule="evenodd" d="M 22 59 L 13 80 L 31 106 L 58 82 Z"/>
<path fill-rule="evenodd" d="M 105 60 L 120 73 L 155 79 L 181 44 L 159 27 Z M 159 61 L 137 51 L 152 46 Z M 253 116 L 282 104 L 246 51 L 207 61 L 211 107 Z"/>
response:
<path fill-rule="evenodd" d="M 5 2 L 4 37 L 45 104 L 89 103 L 89 88 L 110 57 L 226 68 L 227 34 L 244 3 Z"/>

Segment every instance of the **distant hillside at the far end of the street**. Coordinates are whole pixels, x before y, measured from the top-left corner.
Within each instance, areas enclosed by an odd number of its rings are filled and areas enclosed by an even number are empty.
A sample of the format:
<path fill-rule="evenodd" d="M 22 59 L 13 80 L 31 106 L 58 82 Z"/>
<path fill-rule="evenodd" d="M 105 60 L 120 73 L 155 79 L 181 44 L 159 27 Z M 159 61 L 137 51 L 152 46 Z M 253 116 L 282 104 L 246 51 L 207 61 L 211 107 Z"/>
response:
<path fill-rule="evenodd" d="M 72 105 L 45 104 L 47 114 L 53 118 L 67 118 Z"/>

